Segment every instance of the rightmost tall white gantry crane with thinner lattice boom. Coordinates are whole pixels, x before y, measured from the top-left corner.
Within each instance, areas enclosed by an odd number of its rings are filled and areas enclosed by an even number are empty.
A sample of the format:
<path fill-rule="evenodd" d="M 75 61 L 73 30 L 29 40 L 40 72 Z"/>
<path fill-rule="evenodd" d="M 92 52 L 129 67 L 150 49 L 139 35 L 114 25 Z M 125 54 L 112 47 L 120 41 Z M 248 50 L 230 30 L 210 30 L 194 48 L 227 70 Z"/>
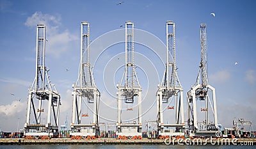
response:
<path fill-rule="evenodd" d="M 190 135 L 195 136 L 214 136 L 219 129 L 215 88 L 209 84 L 207 76 L 205 27 L 206 24 L 200 25 L 201 61 L 198 76 L 195 85 L 188 91 L 188 129 L 191 132 Z M 201 103 L 196 104 L 199 102 Z M 201 120 L 198 117 L 199 114 L 201 114 Z"/>

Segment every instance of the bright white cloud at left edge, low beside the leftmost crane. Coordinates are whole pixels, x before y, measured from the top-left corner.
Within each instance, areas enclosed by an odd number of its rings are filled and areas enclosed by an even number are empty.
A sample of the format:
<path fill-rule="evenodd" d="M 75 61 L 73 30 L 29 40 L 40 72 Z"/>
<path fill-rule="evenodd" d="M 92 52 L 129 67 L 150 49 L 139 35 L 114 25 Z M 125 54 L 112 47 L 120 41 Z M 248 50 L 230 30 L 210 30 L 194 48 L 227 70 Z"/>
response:
<path fill-rule="evenodd" d="M 15 116 L 16 113 L 25 111 L 26 107 L 26 102 L 19 102 L 18 100 L 15 100 L 12 102 L 12 104 L 1 105 L 0 114 L 5 114 L 6 116 Z"/>

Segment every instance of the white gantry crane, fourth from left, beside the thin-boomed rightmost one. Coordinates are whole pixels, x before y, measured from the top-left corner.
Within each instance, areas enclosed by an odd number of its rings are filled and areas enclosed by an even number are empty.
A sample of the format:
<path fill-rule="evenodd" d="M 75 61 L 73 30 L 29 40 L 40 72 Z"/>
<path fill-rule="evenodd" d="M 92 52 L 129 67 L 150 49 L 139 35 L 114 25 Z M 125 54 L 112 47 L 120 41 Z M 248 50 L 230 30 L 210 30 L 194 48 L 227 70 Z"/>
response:
<path fill-rule="evenodd" d="M 156 93 L 157 130 L 161 136 L 184 136 L 183 89 L 175 62 L 175 23 L 173 21 L 166 21 L 166 47 L 166 69 Z M 166 107 L 166 110 L 175 111 L 175 118 L 173 118 L 175 122 L 164 123 L 163 103 L 170 105 L 170 102 L 173 106 Z"/>

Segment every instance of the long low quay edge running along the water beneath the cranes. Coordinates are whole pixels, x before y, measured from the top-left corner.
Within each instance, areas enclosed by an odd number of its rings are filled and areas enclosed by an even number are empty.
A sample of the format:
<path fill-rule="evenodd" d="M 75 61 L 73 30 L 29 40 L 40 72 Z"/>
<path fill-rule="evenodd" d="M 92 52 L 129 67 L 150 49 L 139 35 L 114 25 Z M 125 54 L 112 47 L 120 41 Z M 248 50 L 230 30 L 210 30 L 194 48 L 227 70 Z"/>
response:
<path fill-rule="evenodd" d="M 164 139 L 23 139 L 5 138 L 0 139 L 0 145 L 256 145 L 255 138 L 213 138 L 211 139 L 183 139 L 183 140 L 164 140 Z"/>

